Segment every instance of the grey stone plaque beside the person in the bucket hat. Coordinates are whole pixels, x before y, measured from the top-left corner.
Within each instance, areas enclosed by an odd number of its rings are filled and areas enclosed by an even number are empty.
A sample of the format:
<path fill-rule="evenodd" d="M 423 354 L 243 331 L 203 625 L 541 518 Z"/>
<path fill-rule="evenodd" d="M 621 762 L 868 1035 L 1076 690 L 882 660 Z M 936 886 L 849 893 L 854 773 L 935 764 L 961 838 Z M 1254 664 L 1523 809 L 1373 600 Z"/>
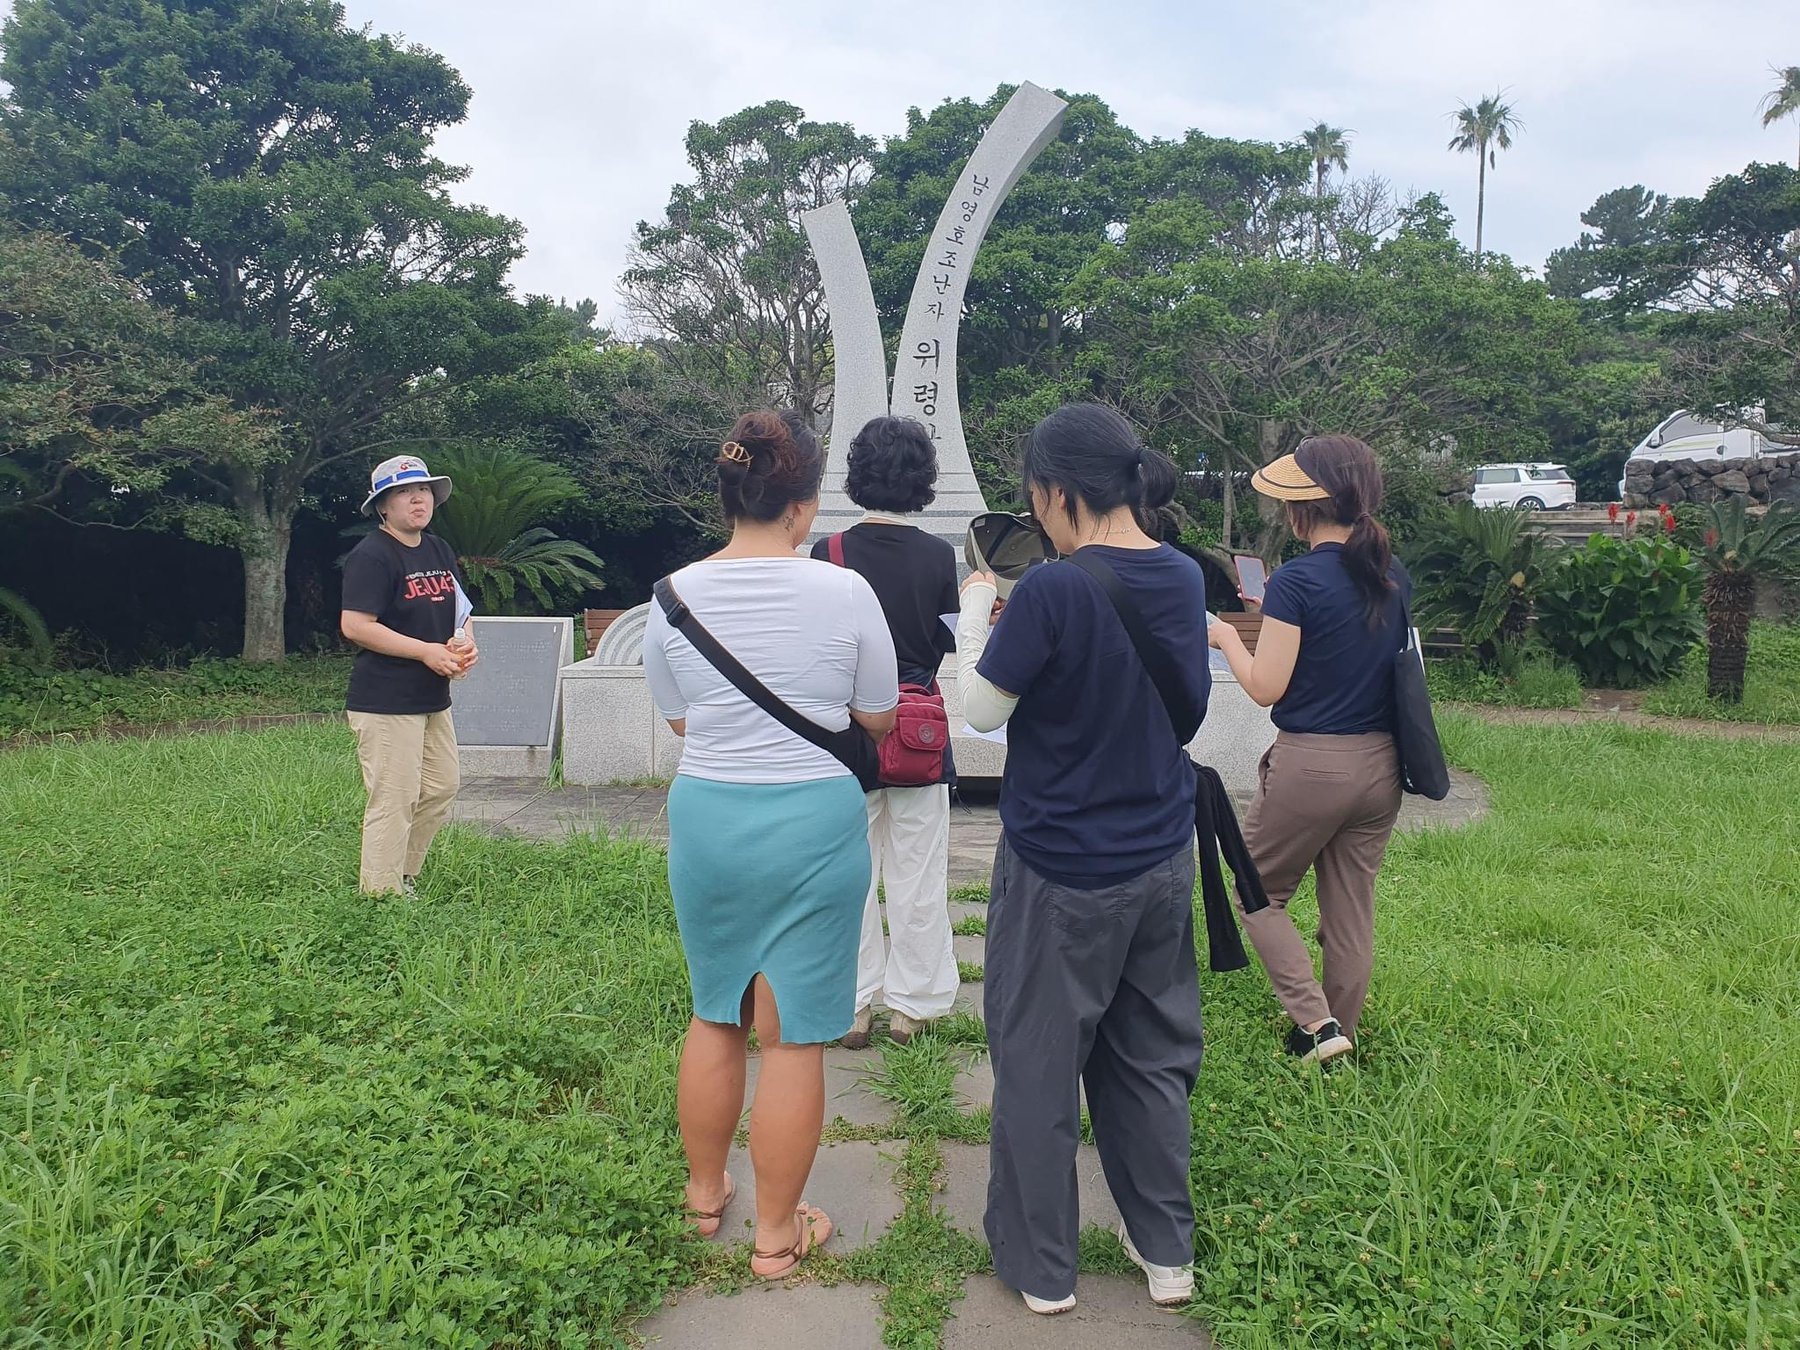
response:
<path fill-rule="evenodd" d="M 450 686 L 464 778 L 549 778 L 574 619 L 475 616 L 475 670 Z"/>

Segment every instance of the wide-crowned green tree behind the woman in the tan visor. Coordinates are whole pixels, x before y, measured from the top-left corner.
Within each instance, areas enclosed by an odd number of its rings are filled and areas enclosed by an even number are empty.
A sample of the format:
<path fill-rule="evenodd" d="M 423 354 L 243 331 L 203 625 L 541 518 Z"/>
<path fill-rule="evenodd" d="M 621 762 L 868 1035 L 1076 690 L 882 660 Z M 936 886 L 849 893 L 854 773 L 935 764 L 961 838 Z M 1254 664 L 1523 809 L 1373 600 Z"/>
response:
<path fill-rule="evenodd" d="M 1246 259 L 1199 203 L 1156 203 L 1073 292 L 1082 365 L 1159 446 L 1219 475 L 1222 549 L 1273 558 L 1282 518 L 1240 535 L 1235 479 L 1303 436 L 1354 432 L 1397 464 L 1449 439 L 1465 454 L 1546 450 L 1541 401 L 1571 378 L 1577 310 L 1467 257 L 1431 202 L 1354 266 Z"/>

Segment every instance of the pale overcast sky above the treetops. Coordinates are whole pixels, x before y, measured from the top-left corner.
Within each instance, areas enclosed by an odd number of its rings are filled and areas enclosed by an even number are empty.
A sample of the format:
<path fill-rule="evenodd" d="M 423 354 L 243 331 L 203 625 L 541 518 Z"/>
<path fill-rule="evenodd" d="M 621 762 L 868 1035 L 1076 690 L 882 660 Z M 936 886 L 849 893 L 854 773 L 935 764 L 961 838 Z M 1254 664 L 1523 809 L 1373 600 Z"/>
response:
<path fill-rule="evenodd" d="M 346 0 L 351 23 L 441 52 L 475 97 L 441 137 L 466 198 L 526 223 L 520 292 L 617 313 L 632 227 L 686 176 L 682 135 L 767 99 L 875 137 L 909 106 L 1001 83 L 1096 94 L 1145 137 L 1355 131 L 1354 175 L 1438 191 L 1474 236 L 1476 166 L 1447 113 L 1505 90 L 1525 121 L 1489 176 L 1487 243 L 1541 266 L 1600 193 L 1692 194 L 1751 160 L 1796 0 Z"/>

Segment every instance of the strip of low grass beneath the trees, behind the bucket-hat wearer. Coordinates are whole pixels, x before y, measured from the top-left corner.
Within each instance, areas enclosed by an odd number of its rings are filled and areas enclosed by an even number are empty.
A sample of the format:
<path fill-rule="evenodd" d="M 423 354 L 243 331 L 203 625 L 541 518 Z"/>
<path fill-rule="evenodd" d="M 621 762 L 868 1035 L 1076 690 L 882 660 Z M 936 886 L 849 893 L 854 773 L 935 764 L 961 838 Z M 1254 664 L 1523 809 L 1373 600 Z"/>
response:
<path fill-rule="evenodd" d="M 349 684 L 346 653 L 292 655 L 275 666 L 196 661 L 130 675 L 38 673 L 0 662 L 0 740 L 31 733 L 191 722 L 266 713 L 333 713 Z"/>

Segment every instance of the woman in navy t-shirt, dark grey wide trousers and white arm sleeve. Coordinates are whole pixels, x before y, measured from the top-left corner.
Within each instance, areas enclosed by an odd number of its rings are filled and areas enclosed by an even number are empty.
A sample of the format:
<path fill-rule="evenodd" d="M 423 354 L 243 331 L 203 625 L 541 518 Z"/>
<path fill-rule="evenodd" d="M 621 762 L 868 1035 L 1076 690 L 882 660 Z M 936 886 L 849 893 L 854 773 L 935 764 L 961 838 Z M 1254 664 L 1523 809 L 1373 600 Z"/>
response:
<path fill-rule="evenodd" d="M 1024 454 L 1031 509 L 1064 556 L 1123 583 L 1184 673 L 1175 727 L 1100 581 L 1021 578 L 990 637 L 994 578 L 965 583 L 958 686 L 977 731 L 1006 725 L 983 999 L 994 1058 L 986 1235 L 1033 1312 L 1075 1307 L 1080 1089 L 1125 1251 L 1157 1303 L 1193 1292 L 1188 1096 L 1201 1069 L 1193 769 L 1206 713 L 1206 583 L 1145 533 L 1175 466 L 1100 405 L 1053 412 Z"/>

